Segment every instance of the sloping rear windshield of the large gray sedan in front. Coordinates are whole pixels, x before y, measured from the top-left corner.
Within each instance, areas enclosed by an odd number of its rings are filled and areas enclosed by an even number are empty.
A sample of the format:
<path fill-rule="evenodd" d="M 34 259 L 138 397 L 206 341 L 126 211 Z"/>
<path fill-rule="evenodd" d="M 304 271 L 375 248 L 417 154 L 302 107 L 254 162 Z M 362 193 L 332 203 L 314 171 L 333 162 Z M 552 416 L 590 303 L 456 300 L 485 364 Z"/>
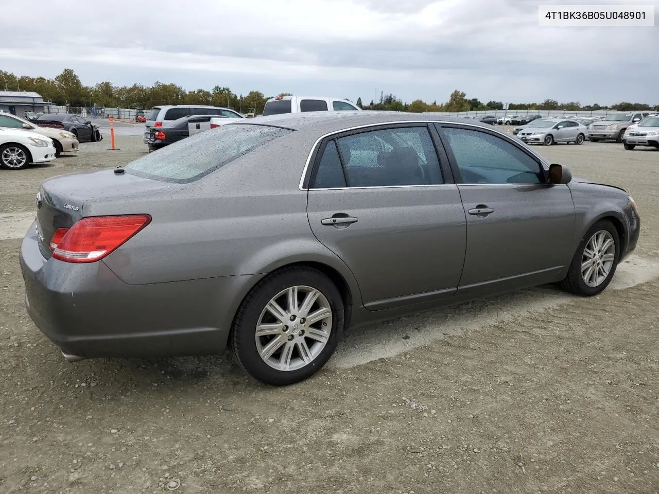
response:
<path fill-rule="evenodd" d="M 294 131 L 287 128 L 231 123 L 148 153 L 124 168 L 138 177 L 165 182 L 192 182 L 291 132 Z"/>

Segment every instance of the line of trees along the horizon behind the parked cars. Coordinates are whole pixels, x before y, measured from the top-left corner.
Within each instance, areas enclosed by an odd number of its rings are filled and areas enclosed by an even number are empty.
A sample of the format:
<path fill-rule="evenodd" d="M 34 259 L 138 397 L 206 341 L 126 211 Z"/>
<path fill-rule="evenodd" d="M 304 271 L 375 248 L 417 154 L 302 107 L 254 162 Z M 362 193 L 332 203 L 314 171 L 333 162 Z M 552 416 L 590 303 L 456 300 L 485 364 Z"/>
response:
<path fill-rule="evenodd" d="M 272 96 L 265 96 L 259 91 L 250 91 L 246 95 L 237 94 L 225 86 L 215 86 L 212 90 L 197 89 L 186 91 L 177 84 L 165 84 L 157 81 L 153 86 L 133 84 L 132 86 L 116 86 L 111 82 L 99 82 L 94 86 L 84 86 L 72 69 L 65 69 L 52 79 L 44 77 L 16 76 L 11 72 L 0 70 L 0 87 L 7 91 L 34 91 L 43 96 L 44 101 L 57 105 L 72 107 L 121 107 L 148 109 L 156 105 L 215 105 L 229 107 L 242 111 L 255 109 L 261 113 L 266 101 Z M 290 96 L 290 93 L 280 93 L 277 96 Z M 346 98 L 348 99 L 348 98 Z M 455 90 L 445 103 L 426 103 L 415 99 L 411 103 L 394 94 L 380 93 L 378 101 L 371 100 L 365 104 L 361 97 L 357 98 L 358 107 L 365 110 L 409 111 L 422 113 L 424 111 L 445 111 L 458 113 L 463 111 L 503 110 L 501 101 L 482 103 L 478 98 L 468 98 L 465 92 Z M 645 103 L 629 103 L 622 101 L 616 105 L 602 106 L 581 105 L 579 101 L 559 103 L 556 99 L 545 99 L 541 103 L 509 103 L 509 110 L 564 110 L 564 111 L 595 111 L 612 109 L 618 111 L 654 110 L 659 111 L 659 105 Z"/>

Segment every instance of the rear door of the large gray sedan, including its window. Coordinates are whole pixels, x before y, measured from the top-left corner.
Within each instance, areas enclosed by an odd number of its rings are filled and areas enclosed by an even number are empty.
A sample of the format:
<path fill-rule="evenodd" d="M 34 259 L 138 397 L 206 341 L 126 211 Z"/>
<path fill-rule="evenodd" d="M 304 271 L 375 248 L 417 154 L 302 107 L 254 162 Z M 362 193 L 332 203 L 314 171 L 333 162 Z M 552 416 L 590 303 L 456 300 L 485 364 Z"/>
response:
<path fill-rule="evenodd" d="M 351 269 L 369 310 L 457 290 L 465 213 L 431 134 L 426 124 L 405 124 L 331 136 L 305 179 L 311 229 Z"/>

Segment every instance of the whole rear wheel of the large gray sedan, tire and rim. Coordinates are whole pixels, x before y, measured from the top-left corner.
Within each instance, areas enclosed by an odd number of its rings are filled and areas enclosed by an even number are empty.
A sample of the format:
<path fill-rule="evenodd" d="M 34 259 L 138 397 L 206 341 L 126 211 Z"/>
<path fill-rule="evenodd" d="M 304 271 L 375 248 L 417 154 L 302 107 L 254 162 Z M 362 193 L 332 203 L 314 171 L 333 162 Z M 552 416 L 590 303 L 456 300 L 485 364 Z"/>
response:
<path fill-rule="evenodd" d="M 326 275 L 310 267 L 288 267 L 266 276 L 244 298 L 231 346 L 254 379 L 290 385 L 326 364 L 341 338 L 343 320 L 343 299 Z"/>

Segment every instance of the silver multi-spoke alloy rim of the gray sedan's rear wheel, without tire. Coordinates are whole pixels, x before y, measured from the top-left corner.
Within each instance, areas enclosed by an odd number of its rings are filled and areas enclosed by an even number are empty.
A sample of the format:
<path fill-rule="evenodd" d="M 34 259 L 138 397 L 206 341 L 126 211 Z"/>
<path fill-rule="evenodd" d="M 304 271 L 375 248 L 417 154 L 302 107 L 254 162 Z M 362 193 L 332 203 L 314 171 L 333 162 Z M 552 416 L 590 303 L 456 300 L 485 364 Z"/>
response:
<path fill-rule="evenodd" d="M 325 348 L 331 325 L 331 306 L 320 290 L 303 285 L 286 288 L 270 299 L 258 318 L 256 350 L 275 370 L 298 370 Z"/>

